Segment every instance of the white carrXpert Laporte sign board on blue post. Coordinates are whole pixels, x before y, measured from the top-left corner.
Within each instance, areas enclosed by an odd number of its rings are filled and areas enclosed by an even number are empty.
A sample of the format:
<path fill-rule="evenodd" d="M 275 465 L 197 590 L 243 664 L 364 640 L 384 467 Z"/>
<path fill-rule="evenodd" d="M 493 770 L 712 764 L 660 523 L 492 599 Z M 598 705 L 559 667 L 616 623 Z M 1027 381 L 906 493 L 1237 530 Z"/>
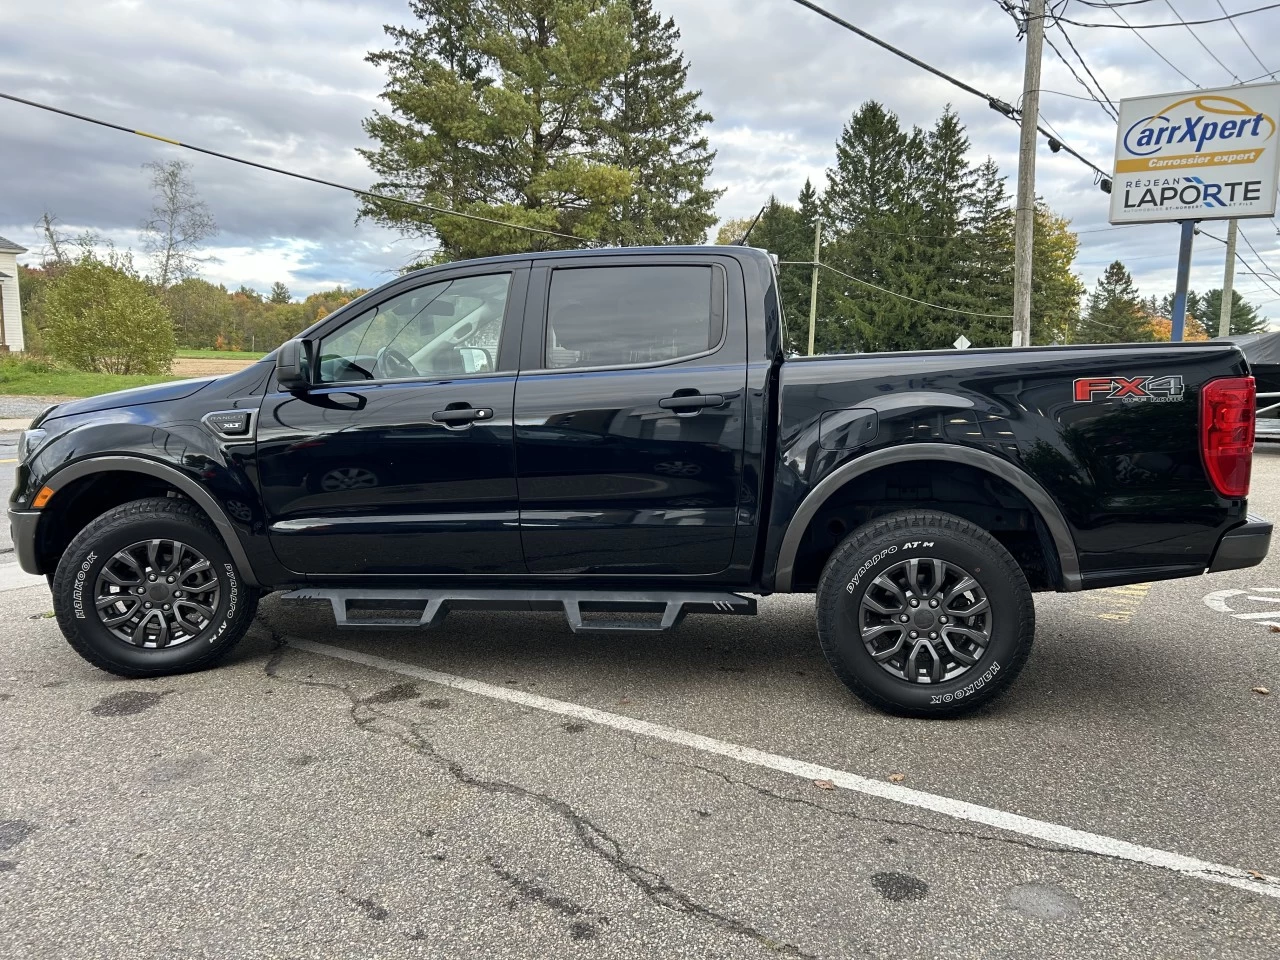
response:
<path fill-rule="evenodd" d="M 1120 101 L 1111 223 L 1274 216 L 1280 83 Z"/>

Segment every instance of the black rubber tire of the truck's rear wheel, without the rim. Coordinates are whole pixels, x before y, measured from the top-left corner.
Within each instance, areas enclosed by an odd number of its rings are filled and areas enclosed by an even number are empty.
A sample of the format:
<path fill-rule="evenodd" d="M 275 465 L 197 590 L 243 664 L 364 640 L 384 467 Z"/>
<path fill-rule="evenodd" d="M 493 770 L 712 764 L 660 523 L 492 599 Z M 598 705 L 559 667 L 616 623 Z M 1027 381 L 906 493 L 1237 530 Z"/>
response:
<path fill-rule="evenodd" d="M 893 530 L 860 540 L 828 568 L 819 588 L 819 636 L 846 684 L 915 714 L 948 714 L 995 696 L 1016 676 L 1034 623 L 1025 622 L 1029 589 L 1012 558 L 996 545 L 940 527 Z M 943 559 L 964 568 L 991 603 L 991 643 L 978 663 L 941 684 L 910 684 L 878 664 L 863 644 L 859 611 L 876 577 L 906 559 Z M 1025 594 L 1025 598 L 1024 595 Z"/>

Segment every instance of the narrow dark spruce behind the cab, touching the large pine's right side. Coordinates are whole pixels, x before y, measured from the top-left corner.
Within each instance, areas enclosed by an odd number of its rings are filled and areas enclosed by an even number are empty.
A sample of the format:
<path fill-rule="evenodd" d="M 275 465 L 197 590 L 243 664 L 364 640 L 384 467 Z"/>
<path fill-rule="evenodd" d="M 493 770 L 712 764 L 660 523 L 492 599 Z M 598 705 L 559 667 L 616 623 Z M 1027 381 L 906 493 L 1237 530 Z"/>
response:
<path fill-rule="evenodd" d="M 701 243 L 724 192 L 707 186 L 716 151 L 703 128 L 712 115 L 698 105 L 701 91 L 687 88 L 676 22 L 663 20 L 652 0 L 628 3 L 630 61 L 602 91 L 596 155 L 630 170 L 632 186 L 602 238 L 618 246 Z"/>

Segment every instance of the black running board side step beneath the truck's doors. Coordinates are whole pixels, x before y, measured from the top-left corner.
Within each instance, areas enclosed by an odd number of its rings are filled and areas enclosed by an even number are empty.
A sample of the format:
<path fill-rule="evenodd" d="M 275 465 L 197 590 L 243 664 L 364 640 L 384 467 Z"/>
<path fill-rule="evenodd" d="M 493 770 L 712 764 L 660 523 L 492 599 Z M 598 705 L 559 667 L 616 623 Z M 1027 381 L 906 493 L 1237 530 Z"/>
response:
<path fill-rule="evenodd" d="M 755 598 L 731 593 L 639 593 L 612 590 L 344 590 L 303 588 L 284 600 L 328 600 L 339 627 L 434 627 L 449 611 L 563 611 L 575 634 L 658 634 L 673 630 L 690 613 L 754 617 Z M 396 609 L 404 617 L 353 613 Z M 380 607 L 381 604 L 381 607 Z M 593 614 L 649 614 L 648 621 Z M 658 617 L 660 614 L 660 617 Z"/>

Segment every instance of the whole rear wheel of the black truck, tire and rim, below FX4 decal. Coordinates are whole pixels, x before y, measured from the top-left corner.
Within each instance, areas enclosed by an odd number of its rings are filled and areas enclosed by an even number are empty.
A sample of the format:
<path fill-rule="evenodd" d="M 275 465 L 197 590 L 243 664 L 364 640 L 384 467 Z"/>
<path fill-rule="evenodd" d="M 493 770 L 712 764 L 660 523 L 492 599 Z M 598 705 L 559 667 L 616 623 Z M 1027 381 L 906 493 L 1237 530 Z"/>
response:
<path fill-rule="evenodd" d="M 818 584 L 827 662 L 891 713 L 954 717 L 991 701 L 1027 663 L 1034 634 L 1021 568 L 950 513 L 902 511 L 860 526 Z"/>

